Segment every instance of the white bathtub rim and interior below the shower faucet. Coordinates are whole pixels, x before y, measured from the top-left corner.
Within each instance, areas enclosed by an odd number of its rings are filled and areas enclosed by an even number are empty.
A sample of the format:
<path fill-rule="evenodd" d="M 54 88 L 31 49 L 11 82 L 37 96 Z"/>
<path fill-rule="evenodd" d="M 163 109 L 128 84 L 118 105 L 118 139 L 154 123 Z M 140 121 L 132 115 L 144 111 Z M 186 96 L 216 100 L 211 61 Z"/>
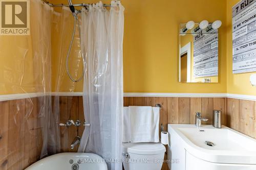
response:
<path fill-rule="evenodd" d="M 92 153 L 60 153 L 41 159 L 25 170 L 108 170 L 104 160 Z"/>

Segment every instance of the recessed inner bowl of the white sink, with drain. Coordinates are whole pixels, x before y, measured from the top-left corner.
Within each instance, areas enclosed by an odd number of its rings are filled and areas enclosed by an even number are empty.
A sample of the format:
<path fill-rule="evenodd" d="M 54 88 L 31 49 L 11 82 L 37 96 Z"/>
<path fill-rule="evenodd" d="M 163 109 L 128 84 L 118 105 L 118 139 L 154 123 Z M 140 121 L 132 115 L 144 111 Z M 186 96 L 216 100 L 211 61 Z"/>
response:
<path fill-rule="evenodd" d="M 199 129 L 189 125 L 190 128 L 177 128 L 187 139 L 198 147 L 207 150 L 223 151 L 256 151 L 254 139 L 247 138 L 240 133 L 234 132 L 227 127 L 215 129 L 212 126 L 203 126 Z M 242 140 L 242 141 L 241 141 Z M 245 141 L 244 141 L 245 140 Z M 205 141 L 214 143 L 214 147 L 205 144 Z M 247 144 L 246 144 L 247 143 Z"/>

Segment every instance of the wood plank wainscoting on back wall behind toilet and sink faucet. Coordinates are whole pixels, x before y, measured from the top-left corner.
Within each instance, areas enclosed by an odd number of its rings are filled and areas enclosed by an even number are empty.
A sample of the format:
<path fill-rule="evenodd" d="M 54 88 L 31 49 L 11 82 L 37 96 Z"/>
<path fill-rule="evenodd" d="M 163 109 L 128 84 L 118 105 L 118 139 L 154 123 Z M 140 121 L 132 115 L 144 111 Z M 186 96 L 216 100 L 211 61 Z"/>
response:
<path fill-rule="evenodd" d="M 195 124 L 195 113 L 201 112 L 202 116 L 208 118 L 204 124 L 212 124 L 213 110 L 222 111 L 222 124 L 227 125 L 227 99 L 226 98 L 142 98 L 124 97 L 124 106 L 155 106 L 161 104 L 159 126 L 164 126 L 167 131 L 167 124 Z M 167 151 L 167 148 L 166 148 Z M 167 152 L 164 159 L 167 159 Z M 167 163 L 164 163 L 162 170 L 167 170 Z"/>

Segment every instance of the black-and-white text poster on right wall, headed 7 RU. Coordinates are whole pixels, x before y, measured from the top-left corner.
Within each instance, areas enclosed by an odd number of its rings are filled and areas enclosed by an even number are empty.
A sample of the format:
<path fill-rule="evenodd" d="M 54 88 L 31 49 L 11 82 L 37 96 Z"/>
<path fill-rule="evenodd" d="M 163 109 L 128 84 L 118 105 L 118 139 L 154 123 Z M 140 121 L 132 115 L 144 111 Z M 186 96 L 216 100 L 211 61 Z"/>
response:
<path fill-rule="evenodd" d="M 233 74 L 256 71 L 256 0 L 232 8 Z"/>

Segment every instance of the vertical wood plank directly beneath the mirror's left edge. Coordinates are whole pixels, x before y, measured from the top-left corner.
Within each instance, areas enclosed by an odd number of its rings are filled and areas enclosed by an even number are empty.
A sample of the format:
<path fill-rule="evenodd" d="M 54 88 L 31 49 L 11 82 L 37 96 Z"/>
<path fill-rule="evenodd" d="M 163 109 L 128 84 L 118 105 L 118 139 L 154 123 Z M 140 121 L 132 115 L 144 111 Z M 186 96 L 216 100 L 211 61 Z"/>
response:
<path fill-rule="evenodd" d="M 190 124 L 189 98 L 179 98 L 179 124 Z"/>

